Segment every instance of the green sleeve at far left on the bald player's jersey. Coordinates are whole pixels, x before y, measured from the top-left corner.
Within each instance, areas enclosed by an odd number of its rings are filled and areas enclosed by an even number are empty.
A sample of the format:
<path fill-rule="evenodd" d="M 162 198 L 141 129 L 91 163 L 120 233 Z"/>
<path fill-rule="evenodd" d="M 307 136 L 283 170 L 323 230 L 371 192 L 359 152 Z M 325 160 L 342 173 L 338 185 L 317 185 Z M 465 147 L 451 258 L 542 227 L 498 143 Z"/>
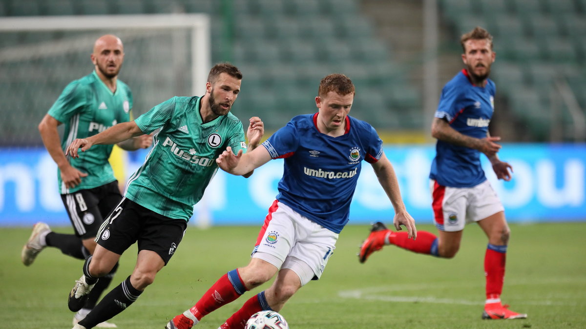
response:
<path fill-rule="evenodd" d="M 87 105 L 87 92 L 83 85 L 73 82 L 67 85 L 49 109 L 50 116 L 59 122 L 67 122 Z"/>

